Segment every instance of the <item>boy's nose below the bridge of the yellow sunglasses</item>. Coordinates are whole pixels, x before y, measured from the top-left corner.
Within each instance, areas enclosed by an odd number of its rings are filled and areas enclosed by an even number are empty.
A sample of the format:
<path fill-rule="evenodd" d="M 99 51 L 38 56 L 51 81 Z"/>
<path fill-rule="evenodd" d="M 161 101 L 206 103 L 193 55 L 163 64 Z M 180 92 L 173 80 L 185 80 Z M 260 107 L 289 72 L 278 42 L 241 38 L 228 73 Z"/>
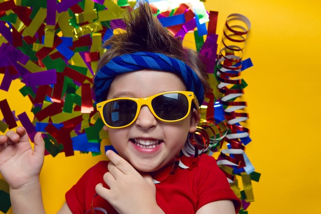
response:
<path fill-rule="evenodd" d="M 148 130 L 156 126 L 157 119 L 149 110 L 148 106 L 142 106 L 135 123 L 139 128 Z"/>

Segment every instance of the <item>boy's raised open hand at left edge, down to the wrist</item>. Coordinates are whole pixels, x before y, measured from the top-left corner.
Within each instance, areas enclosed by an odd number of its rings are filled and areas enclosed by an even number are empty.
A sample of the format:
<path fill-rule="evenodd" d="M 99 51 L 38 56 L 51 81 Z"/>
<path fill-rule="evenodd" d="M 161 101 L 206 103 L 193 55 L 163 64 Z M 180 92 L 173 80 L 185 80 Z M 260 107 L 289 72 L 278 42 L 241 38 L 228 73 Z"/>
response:
<path fill-rule="evenodd" d="M 44 155 L 45 143 L 41 133 L 36 133 L 34 137 L 34 150 L 24 127 L 0 135 L 0 173 L 11 189 L 38 181 Z"/>

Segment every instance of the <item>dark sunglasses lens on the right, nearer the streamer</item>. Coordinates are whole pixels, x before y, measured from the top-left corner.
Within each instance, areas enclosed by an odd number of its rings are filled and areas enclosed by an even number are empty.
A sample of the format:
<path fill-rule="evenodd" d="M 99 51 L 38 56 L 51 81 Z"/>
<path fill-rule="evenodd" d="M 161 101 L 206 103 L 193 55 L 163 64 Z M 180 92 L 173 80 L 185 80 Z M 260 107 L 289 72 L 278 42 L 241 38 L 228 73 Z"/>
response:
<path fill-rule="evenodd" d="M 174 121 L 183 118 L 188 112 L 188 100 L 184 94 L 167 93 L 156 96 L 152 106 L 159 118 Z"/>

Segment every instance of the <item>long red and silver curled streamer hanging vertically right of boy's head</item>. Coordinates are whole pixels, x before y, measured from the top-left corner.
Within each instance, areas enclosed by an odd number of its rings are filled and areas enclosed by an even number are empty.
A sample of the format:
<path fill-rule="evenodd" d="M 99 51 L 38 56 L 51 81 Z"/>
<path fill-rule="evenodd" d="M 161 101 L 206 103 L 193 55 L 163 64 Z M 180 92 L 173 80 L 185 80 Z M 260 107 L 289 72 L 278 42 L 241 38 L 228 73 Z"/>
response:
<path fill-rule="evenodd" d="M 250 27 L 250 21 L 244 15 L 236 13 L 229 15 L 217 54 L 216 76 L 219 81 L 217 87 L 224 94 L 221 102 L 226 107 L 224 115 L 229 128 L 225 141 L 230 145 L 229 149 L 223 149 L 220 152 L 217 165 L 245 166 L 242 155 L 245 146 L 242 145 L 240 138 L 248 137 L 249 129 L 238 124 L 246 121 L 249 115 L 244 112 L 235 112 L 247 106 L 246 102 L 235 100 L 244 94 L 242 79 L 239 79 L 239 76 L 242 72 L 243 49 L 246 45 Z M 224 172 L 229 182 L 233 182 L 234 176 L 226 171 Z"/>

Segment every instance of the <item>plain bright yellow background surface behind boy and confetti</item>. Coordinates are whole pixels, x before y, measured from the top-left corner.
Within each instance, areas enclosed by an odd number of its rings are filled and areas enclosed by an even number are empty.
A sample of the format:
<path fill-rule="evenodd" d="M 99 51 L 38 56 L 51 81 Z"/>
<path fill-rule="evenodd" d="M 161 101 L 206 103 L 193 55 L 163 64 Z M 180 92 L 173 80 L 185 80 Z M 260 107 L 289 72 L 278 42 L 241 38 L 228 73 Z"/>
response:
<path fill-rule="evenodd" d="M 321 3 L 207 0 L 205 6 L 219 12 L 219 35 L 231 13 L 247 16 L 252 24 L 244 59 L 250 57 L 254 67 L 241 77 L 249 85 L 243 96 L 252 139 L 246 153 L 262 176 L 252 182 L 255 202 L 249 213 L 321 213 Z M 15 81 L 9 93 L 0 91 L 0 100 L 6 98 L 16 114 L 31 109 L 20 87 Z M 48 155 L 41 173 L 47 213 L 55 213 L 65 192 L 101 159 L 104 155 Z"/>

